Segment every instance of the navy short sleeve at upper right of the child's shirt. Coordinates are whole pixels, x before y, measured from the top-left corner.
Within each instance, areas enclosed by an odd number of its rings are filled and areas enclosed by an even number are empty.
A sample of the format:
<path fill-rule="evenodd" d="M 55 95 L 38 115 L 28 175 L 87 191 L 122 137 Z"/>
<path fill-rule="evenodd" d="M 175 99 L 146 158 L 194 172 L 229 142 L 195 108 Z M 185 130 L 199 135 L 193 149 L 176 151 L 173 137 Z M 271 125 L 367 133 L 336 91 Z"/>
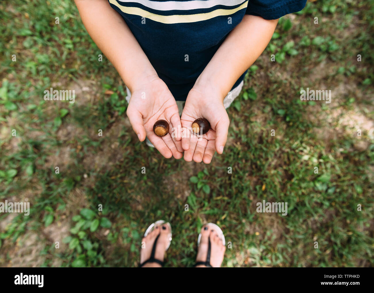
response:
<path fill-rule="evenodd" d="M 305 7 L 306 0 L 248 0 L 245 14 L 261 16 L 264 19 L 277 19 Z"/>

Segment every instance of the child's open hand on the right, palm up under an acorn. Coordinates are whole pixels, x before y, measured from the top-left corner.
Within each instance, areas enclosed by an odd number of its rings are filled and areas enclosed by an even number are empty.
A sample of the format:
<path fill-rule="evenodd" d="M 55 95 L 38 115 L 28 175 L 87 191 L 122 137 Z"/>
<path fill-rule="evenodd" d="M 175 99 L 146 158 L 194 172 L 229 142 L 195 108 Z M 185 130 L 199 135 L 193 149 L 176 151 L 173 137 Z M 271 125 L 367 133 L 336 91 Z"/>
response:
<path fill-rule="evenodd" d="M 192 123 L 198 118 L 207 119 L 211 125 L 211 129 L 204 135 L 195 135 L 191 131 Z M 191 89 L 184 105 L 181 123 L 182 147 L 186 161 L 203 161 L 209 164 L 216 151 L 223 153 L 230 120 L 223 106 L 223 98 L 214 88 L 207 86 Z"/>

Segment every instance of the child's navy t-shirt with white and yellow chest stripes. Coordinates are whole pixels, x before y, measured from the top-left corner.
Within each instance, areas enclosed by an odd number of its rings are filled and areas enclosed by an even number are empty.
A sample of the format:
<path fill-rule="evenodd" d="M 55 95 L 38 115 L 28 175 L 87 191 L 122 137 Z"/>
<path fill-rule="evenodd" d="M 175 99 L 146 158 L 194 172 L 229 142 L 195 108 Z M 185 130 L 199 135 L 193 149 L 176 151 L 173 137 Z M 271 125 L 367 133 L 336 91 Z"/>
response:
<path fill-rule="evenodd" d="M 277 19 L 303 9 L 306 3 L 306 0 L 108 1 L 125 19 L 177 101 L 186 100 L 197 77 L 245 14 Z"/>

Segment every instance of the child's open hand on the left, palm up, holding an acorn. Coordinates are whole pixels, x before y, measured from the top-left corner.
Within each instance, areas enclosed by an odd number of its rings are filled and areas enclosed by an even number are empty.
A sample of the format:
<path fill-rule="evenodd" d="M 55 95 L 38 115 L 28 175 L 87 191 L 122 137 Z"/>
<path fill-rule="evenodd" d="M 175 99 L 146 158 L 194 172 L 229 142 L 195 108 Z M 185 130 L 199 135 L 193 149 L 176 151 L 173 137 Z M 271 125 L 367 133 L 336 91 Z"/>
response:
<path fill-rule="evenodd" d="M 181 135 L 171 135 L 172 128 L 181 129 L 178 106 L 168 86 L 159 77 L 132 89 L 126 114 L 140 141 L 147 136 L 165 158 L 182 158 Z M 153 132 L 154 123 L 160 119 L 168 121 L 170 125 L 169 133 L 163 137 Z M 175 134 L 178 135 L 178 132 Z"/>

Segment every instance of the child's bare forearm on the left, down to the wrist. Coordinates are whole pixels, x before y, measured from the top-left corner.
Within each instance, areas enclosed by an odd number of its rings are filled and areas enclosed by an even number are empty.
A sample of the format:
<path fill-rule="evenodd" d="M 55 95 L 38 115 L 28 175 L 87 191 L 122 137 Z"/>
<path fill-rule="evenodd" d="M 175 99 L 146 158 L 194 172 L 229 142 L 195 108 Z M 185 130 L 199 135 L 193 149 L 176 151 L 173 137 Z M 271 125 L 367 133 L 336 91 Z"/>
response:
<path fill-rule="evenodd" d="M 157 77 L 123 18 L 107 0 L 75 0 L 92 40 L 116 67 L 126 86 L 135 88 Z"/>

